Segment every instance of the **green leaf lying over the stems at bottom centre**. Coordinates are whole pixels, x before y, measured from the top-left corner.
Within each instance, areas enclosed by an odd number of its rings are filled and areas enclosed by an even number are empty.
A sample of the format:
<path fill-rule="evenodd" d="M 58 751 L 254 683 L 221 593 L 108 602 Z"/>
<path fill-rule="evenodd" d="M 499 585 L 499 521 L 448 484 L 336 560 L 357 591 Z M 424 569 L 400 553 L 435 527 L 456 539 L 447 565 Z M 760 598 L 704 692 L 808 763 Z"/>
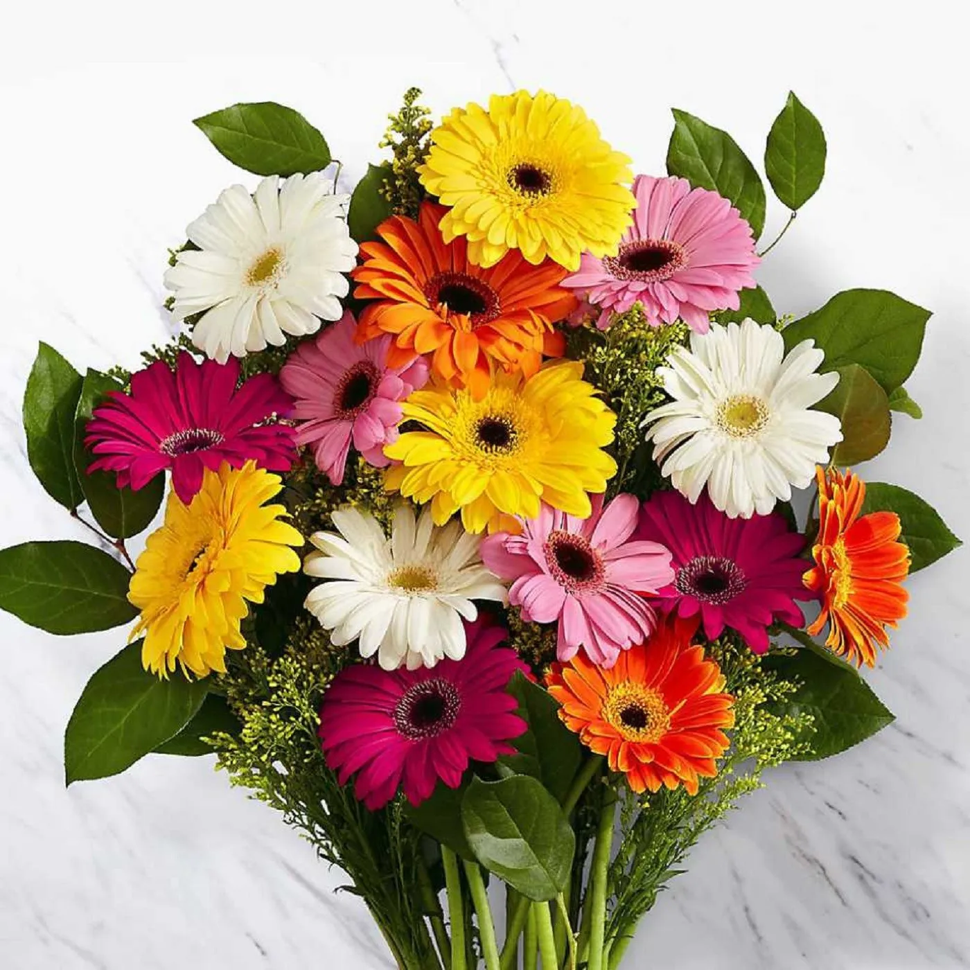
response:
<path fill-rule="evenodd" d="M 472 779 L 462 822 L 475 857 L 512 889 L 542 901 L 566 888 L 576 838 L 559 802 L 534 778 Z"/>

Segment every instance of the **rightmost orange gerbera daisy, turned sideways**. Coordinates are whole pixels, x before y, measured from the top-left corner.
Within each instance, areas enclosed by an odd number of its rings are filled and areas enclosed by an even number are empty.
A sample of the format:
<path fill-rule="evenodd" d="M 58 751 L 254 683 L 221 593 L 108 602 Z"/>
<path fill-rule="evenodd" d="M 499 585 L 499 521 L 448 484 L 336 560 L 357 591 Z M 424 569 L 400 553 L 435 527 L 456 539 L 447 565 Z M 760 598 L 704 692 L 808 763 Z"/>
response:
<path fill-rule="evenodd" d="M 900 582 L 909 573 L 909 548 L 899 538 L 895 512 L 860 516 L 865 482 L 851 471 L 819 468 L 819 536 L 815 566 L 805 585 L 822 598 L 822 612 L 809 628 L 829 624 L 825 646 L 857 666 L 874 666 L 876 650 L 889 646 L 887 627 L 906 616 L 909 594 Z"/>

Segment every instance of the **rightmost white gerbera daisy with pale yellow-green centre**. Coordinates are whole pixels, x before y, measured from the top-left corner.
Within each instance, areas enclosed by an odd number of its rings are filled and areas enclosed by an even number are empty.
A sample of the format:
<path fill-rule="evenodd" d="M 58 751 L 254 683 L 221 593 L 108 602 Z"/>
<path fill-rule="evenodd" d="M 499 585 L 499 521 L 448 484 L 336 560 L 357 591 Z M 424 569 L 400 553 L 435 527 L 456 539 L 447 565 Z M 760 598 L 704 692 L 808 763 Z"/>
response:
<path fill-rule="evenodd" d="M 706 484 L 730 518 L 791 499 L 842 440 L 837 417 L 809 410 L 839 380 L 817 373 L 823 360 L 812 340 L 786 356 L 782 335 L 751 319 L 692 334 L 691 349 L 677 347 L 658 371 L 674 400 L 643 422 L 662 473 L 692 502 Z"/>

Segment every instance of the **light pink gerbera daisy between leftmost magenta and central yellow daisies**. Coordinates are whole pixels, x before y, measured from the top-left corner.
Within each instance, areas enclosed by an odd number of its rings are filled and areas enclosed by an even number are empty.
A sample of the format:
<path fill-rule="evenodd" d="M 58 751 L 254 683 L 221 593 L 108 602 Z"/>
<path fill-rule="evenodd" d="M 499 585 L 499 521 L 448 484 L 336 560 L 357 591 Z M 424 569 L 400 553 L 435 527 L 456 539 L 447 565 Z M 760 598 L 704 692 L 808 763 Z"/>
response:
<path fill-rule="evenodd" d="M 428 365 L 417 357 L 389 367 L 390 336 L 354 342 L 357 324 L 349 312 L 315 340 L 301 344 L 283 365 L 279 379 L 296 398 L 295 417 L 303 421 L 297 443 L 313 447 L 316 466 L 334 485 L 343 481 L 350 442 L 375 468 L 390 462 L 384 445 L 396 441 L 401 402 L 428 379 Z"/>

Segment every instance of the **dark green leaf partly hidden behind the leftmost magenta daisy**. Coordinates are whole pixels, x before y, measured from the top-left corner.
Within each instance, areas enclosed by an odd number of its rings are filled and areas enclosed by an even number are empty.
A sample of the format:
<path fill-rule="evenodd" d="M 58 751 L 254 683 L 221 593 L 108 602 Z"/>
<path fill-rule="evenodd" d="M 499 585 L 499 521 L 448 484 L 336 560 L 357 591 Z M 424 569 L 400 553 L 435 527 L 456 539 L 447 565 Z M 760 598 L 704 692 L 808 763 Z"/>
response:
<path fill-rule="evenodd" d="M 84 374 L 75 415 L 74 464 L 95 521 L 114 538 L 126 539 L 146 530 L 154 519 L 165 491 L 165 474 L 155 475 L 144 488 L 135 492 L 130 488 L 118 488 L 111 471 L 87 470 L 94 461 L 94 456 L 84 447 L 87 422 L 105 395 L 118 390 L 118 382 L 107 374 L 90 370 Z"/>

